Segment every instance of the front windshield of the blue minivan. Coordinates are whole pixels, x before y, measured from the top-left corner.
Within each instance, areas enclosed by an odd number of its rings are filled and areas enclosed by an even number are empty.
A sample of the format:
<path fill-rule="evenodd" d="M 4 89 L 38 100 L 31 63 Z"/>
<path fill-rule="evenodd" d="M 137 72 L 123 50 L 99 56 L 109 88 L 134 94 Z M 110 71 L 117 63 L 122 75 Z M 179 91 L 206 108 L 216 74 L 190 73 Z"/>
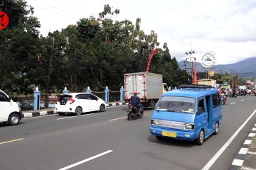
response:
<path fill-rule="evenodd" d="M 194 113 L 195 98 L 180 96 L 162 96 L 156 104 L 156 111 Z"/>

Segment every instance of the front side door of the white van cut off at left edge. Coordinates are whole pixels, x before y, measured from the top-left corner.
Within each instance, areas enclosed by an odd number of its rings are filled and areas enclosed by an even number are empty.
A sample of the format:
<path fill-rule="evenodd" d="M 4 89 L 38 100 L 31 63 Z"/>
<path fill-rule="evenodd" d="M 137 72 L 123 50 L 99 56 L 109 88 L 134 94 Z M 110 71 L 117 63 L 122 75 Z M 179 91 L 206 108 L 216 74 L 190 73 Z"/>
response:
<path fill-rule="evenodd" d="M 5 122 L 12 111 L 11 102 L 8 96 L 0 91 L 0 122 Z"/>

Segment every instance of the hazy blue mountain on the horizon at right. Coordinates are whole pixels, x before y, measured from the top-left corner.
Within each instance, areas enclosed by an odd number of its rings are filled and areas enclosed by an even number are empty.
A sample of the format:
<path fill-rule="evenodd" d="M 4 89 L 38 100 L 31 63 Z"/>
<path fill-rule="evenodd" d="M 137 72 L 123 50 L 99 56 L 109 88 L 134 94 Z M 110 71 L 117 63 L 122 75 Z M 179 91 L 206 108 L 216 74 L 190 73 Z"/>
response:
<path fill-rule="evenodd" d="M 185 69 L 185 64 L 186 68 L 191 67 L 186 61 L 178 62 L 178 66 L 181 69 Z M 196 63 L 196 69 L 197 72 L 207 71 L 200 62 Z M 233 64 L 218 64 L 210 70 L 213 70 L 215 73 L 238 73 L 240 77 L 256 77 L 256 57 L 250 57 Z"/>

